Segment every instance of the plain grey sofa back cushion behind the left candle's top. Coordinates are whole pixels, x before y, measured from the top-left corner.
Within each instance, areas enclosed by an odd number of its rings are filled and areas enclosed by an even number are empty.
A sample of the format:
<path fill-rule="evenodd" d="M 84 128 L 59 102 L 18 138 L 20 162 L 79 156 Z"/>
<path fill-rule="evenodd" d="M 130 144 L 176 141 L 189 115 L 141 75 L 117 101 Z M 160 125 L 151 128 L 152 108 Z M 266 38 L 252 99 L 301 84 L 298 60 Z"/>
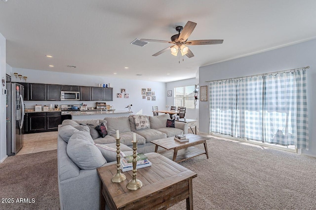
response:
<path fill-rule="evenodd" d="M 130 132 L 130 125 L 128 117 L 104 118 L 107 121 L 108 135 Z"/>

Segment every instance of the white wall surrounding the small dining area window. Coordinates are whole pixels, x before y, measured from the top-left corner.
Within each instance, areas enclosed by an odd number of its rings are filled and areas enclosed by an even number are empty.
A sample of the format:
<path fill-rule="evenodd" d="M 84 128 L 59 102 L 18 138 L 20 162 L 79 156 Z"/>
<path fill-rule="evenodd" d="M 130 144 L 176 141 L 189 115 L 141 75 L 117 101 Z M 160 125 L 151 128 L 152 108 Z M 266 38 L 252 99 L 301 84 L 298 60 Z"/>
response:
<path fill-rule="evenodd" d="M 165 105 L 168 105 L 169 109 L 170 109 L 170 106 L 174 105 L 174 88 L 192 86 L 192 85 L 196 85 L 197 83 L 198 83 L 198 81 L 196 80 L 196 78 L 166 83 L 166 91 L 172 90 L 172 97 L 170 97 L 170 96 L 167 97 Z M 165 107 L 162 107 L 162 108 L 165 108 Z M 186 109 L 186 118 L 198 120 L 198 102 L 197 102 L 196 109 L 188 109 L 188 108 Z"/>

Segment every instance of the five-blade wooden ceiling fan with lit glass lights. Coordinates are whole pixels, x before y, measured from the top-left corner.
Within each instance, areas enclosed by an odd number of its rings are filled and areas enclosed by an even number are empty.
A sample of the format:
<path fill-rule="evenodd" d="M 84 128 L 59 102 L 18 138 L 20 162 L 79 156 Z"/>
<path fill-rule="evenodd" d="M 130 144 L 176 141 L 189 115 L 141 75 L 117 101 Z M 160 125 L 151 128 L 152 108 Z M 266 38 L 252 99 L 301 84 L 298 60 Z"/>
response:
<path fill-rule="evenodd" d="M 187 24 L 182 26 L 177 26 L 176 30 L 179 32 L 171 36 L 171 41 L 164 41 L 164 40 L 156 40 L 156 39 L 140 39 L 140 41 L 147 41 L 147 42 L 163 42 L 163 43 L 170 43 L 173 44 L 163 50 L 160 50 L 158 53 L 155 53 L 153 56 L 158 56 L 169 49 L 171 50 L 171 54 L 174 56 L 178 55 L 178 52 L 181 52 L 181 55 L 186 55 L 188 58 L 194 57 L 192 51 L 186 45 L 207 45 L 207 44 L 222 44 L 223 39 L 202 39 L 202 40 L 188 40 L 189 36 L 196 28 L 197 23 L 188 21 Z M 182 32 L 181 32 L 182 31 Z M 181 32 L 181 33 L 180 33 Z"/>

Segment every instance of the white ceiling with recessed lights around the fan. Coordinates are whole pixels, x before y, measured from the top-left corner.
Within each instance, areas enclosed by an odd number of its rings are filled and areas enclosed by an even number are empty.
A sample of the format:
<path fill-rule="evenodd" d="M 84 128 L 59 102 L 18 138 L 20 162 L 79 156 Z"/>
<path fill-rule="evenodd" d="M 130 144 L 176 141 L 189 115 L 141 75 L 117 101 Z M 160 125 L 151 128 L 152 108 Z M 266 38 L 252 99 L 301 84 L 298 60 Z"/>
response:
<path fill-rule="evenodd" d="M 316 0 L 0 0 L 0 33 L 12 67 L 170 82 L 194 78 L 200 66 L 314 39 L 315 11 Z M 180 64 L 170 52 L 152 56 L 168 44 L 130 44 L 170 40 L 189 20 L 197 23 L 189 40 L 224 43 L 190 46 L 195 57 Z"/>

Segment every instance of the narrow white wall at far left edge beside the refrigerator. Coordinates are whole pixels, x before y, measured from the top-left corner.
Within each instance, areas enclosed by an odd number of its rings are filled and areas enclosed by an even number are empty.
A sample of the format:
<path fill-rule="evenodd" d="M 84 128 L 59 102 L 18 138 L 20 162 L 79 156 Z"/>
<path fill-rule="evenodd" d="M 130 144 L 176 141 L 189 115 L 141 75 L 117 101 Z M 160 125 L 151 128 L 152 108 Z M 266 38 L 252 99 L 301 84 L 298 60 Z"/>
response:
<path fill-rule="evenodd" d="M 5 38 L 0 33 L 0 79 L 4 78 L 5 80 L 5 66 L 6 66 L 6 57 L 5 57 Z M 1 83 L 2 84 L 2 83 Z M 2 89 L 5 89 L 5 86 L 1 86 L 0 92 L 0 163 L 7 157 L 6 155 L 6 96 L 2 95 Z"/>

